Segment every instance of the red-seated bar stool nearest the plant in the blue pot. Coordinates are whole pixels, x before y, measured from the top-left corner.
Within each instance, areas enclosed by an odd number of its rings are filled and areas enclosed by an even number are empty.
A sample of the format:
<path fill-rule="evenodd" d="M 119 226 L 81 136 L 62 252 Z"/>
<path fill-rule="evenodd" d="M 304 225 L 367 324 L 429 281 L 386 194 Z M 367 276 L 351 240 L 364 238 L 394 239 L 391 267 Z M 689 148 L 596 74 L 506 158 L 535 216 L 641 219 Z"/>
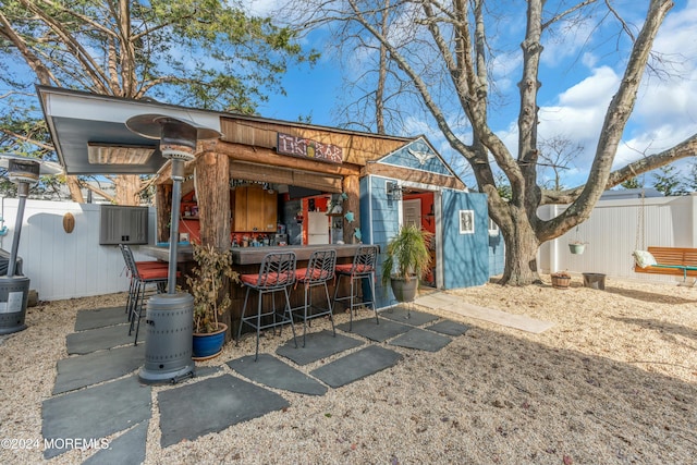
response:
<path fill-rule="evenodd" d="M 267 254 L 259 266 L 259 272 L 257 274 L 242 274 L 240 280 L 242 284 L 247 286 L 247 292 L 244 297 L 244 306 L 242 307 L 242 316 L 240 317 L 240 328 L 237 330 L 237 341 L 235 345 L 240 344 L 240 338 L 242 336 L 242 327 L 248 325 L 257 331 L 257 348 L 254 360 L 259 357 L 259 335 L 262 329 L 282 327 L 285 323 L 291 325 L 293 330 L 293 341 L 295 341 L 295 347 L 297 347 L 297 340 L 295 339 L 295 327 L 293 326 L 293 314 L 291 313 L 291 301 L 289 298 L 288 289 L 295 283 L 295 253 L 270 253 Z M 249 315 L 245 317 L 247 310 L 247 301 L 249 299 L 249 292 L 257 291 L 259 294 L 259 301 L 257 305 L 256 315 Z M 283 310 L 279 311 L 276 308 L 276 293 L 283 291 L 285 303 L 283 304 Z M 271 294 L 271 309 L 262 310 L 262 301 L 265 294 Z M 271 322 L 261 322 L 261 318 L 273 317 Z M 281 328 L 282 331 L 283 328 Z M 279 331 L 279 334 L 281 333 Z"/>

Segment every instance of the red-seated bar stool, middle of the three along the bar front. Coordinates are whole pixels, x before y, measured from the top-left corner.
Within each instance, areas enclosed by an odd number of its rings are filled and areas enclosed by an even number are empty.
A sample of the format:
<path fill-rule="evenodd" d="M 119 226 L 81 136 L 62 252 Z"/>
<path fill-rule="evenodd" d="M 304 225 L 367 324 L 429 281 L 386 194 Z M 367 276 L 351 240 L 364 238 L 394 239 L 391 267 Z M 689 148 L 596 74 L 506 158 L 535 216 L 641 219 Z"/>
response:
<path fill-rule="evenodd" d="M 295 271 L 296 285 L 299 283 L 303 285 L 305 293 L 305 301 L 302 307 L 295 307 L 291 311 L 295 313 L 303 310 L 302 315 L 295 315 L 294 317 L 303 319 L 303 347 L 305 346 L 305 333 L 307 332 L 307 320 L 311 318 L 329 315 L 331 321 L 331 330 L 337 336 L 337 330 L 334 329 L 334 317 L 332 315 L 332 304 L 329 298 L 329 289 L 327 287 L 327 281 L 334 278 L 334 267 L 337 266 L 337 250 L 315 250 L 309 256 L 307 268 L 299 268 Z M 323 285 L 325 296 L 327 297 L 327 307 L 313 306 L 313 287 Z M 315 308 L 315 313 L 308 314 L 309 310 Z"/>

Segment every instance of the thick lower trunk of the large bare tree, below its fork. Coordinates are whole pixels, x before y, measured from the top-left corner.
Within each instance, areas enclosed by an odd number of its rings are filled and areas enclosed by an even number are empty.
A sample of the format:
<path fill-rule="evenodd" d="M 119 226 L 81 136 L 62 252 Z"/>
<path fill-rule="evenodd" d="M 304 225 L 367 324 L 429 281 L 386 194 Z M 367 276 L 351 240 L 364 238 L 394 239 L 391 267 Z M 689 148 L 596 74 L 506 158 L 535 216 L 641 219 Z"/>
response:
<path fill-rule="evenodd" d="M 528 285 L 540 283 L 537 250 L 540 242 L 529 221 L 513 219 L 513 229 L 501 229 L 505 241 L 505 266 L 500 284 Z"/>

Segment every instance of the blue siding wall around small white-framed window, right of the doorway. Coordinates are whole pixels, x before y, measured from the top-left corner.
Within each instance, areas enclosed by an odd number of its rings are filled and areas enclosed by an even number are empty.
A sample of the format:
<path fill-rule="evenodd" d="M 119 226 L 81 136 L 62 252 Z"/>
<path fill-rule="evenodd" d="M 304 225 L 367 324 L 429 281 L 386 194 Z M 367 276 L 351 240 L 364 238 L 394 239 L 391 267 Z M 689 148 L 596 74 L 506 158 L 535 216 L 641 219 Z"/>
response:
<path fill-rule="evenodd" d="M 444 189 L 443 286 L 469 287 L 489 280 L 489 212 L 485 194 Z M 474 210 L 475 233 L 460 233 L 460 210 Z"/>

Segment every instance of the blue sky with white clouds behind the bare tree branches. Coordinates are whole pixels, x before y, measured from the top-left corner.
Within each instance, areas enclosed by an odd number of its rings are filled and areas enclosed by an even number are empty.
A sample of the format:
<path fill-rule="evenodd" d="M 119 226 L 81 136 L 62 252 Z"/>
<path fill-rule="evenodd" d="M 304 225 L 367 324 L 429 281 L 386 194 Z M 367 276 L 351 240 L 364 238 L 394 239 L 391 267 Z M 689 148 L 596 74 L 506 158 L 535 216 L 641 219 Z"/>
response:
<path fill-rule="evenodd" d="M 283 0 L 254 0 L 252 5 L 258 13 L 269 13 L 282 3 Z M 613 4 L 637 24 L 647 3 L 622 0 Z M 512 15 L 509 21 L 509 28 L 503 29 L 511 34 L 524 26 L 519 16 L 516 19 Z M 585 148 L 572 169 L 563 173 L 566 186 L 585 180 L 607 106 L 624 71 L 619 56 L 613 53 L 616 42 L 602 34 L 602 29 L 589 32 L 580 28 L 576 34 L 557 37 L 554 41 L 545 44 L 539 100 L 540 135 L 546 138 L 563 136 Z M 305 45 L 323 50 L 326 56 L 311 70 L 306 66 L 290 70 L 284 78 L 288 96 L 271 96 L 271 100 L 259 108 L 259 113 L 291 121 L 297 120 L 298 115 L 310 114 L 315 124 L 334 125 L 338 122 L 332 119 L 332 111 L 344 91 L 342 73 L 350 70 L 338 65 L 337 59 L 325 49 L 321 32 L 307 36 Z M 669 148 L 697 133 L 697 0 L 675 1 L 653 49 L 670 61 L 667 69 L 671 70 L 671 75 L 645 76 L 617 151 L 616 168 L 643 155 Z M 519 60 L 519 53 L 501 54 L 493 71 L 497 87 L 501 91 L 513 93 L 508 94 L 509 105 L 498 108 L 492 119 L 493 130 L 510 148 L 515 148 L 517 140 L 518 99 L 515 93 L 521 75 Z M 452 156 L 432 121 L 414 121 L 409 127 L 405 127 L 405 134 L 400 135 L 421 133 L 445 159 Z M 464 134 L 464 137 L 467 135 Z M 647 183 L 650 184 L 650 174 L 648 176 Z"/>

